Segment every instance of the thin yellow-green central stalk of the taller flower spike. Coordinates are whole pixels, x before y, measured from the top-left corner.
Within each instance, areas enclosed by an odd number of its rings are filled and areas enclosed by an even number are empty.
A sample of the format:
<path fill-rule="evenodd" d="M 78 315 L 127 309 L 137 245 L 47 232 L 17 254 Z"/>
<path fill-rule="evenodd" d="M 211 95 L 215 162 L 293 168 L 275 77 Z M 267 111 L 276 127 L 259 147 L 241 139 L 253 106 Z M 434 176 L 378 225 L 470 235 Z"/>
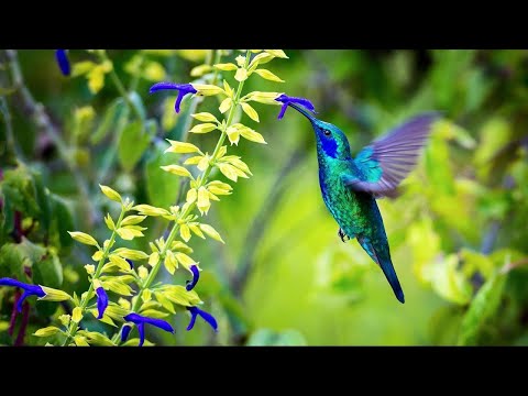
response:
<path fill-rule="evenodd" d="M 245 68 L 248 68 L 248 65 L 250 63 L 250 56 L 251 56 L 251 52 L 248 51 L 246 57 L 245 57 L 245 64 L 244 64 Z M 226 136 L 227 136 L 226 131 L 228 130 L 229 127 L 231 127 L 231 122 L 233 121 L 234 112 L 237 110 L 237 107 L 239 106 L 240 95 L 242 92 L 243 87 L 244 87 L 244 81 L 240 81 L 239 87 L 237 89 L 237 94 L 234 95 L 234 98 L 233 98 L 233 106 L 231 107 L 231 109 L 229 111 L 229 114 L 228 114 L 228 120 L 227 120 L 227 123 L 226 123 L 226 128 L 222 130 L 222 133 L 221 133 L 220 138 L 218 139 L 217 146 L 215 147 L 215 151 L 212 153 L 212 158 L 216 158 L 216 156 L 218 155 L 218 152 L 220 151 L 220 147 L 222 146 L 222 144 L 226 140 Z M 204 185 L 207 184 L 207 178 L 208 178 L 209 174 L 211 173 L 212 168 L 213 168 L 213 164 L 209 163 L 207 168 L 204 170 L 204 175 L 200 178 L 200 183 L 198 184 L 198 186 L 196 188 L 197 190 L 200 187 L 202 187 Z M 178 219 L 175 221 L 175 223 L 173 226 L 173 229 L 170 230 L 170 233 L 167 237 L 167 241 L 165 242 L 165 245 L 163 246 L 162 251 L 160 252 L 160 258 L 157 260 L 157 263 L 154 264 L 154 266 L 153 266 L 152 271 L 150 272 L 148 276 L 146 277 L 146 279 L 143 282 L 143 284 L 140 287 L 140 292 L 138 293 L 139 296 L 141 295 L 141 293 L 144 289 L 147 289 L 151 286 L 152 282 L 154 282 L 154 278 L 156 277 L 157 273 L 160 272 L 160 268 L 162 267 L 163 258 L 165 257 L 165 253 L 167 252 L 167 249 L 170 248 L 170 245 L 172 245 L 172 243 L 173 243 L 173 241 L 176 238 L 176 234 L 178 232 L 178 229 L 179 229 L 178 220 L 183 220 L 187 216 L 189 216 L 189 213 L 195 209 L 195 207 L 196 207 L 196 201 L 193 202 L 191 205 L 189 205 L 187 207 L 187 209 L 184 210 L 179 215 Z M 132 306 L 132 312 L 135 312 L 140 308 L 140 305 L 141 305 L 141 299 L 138 298 L 135 300 L 134 305 Z M 117 332 L 113 336 L 112 341 L 113 342 L 119 342 L 119 332 Z"/>

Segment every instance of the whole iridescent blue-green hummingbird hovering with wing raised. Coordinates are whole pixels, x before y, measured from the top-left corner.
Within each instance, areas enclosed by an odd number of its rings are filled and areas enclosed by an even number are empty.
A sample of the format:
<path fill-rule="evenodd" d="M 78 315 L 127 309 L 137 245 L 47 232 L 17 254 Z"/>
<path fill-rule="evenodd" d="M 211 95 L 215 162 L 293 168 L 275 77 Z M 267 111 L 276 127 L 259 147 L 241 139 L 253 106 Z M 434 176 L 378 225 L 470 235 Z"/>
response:
<path fill-rule="evenodd" d="M 404 304 L 404 290 L 391 260 L 376 199 L 395 196 L 398 185 L 418 162 L 439 113 L 426 112 L 411 118 L 352 157 L 346 135 L 338 127 L 318 120 L 297 105 L 289 102 L 288 106 L 305 116 L 316 133 L 319 186 L 322 200 L 339 224 L 339 237 L 343 242 L 358 240 Z"/>

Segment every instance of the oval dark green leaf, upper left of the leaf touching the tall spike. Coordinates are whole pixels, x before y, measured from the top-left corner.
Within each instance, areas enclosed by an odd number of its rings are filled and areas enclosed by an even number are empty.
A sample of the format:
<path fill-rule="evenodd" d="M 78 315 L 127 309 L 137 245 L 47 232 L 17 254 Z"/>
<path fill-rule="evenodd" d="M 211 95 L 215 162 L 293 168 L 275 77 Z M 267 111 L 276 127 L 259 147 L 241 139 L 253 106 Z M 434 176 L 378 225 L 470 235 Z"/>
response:
<path fill-rule="evenodd" d="M 124 170 L 134 168 L 150 143 L 151 136 L 145 133 L 142 121 L 133 121 L 123 129 L 118 142 L 118 157 Z"/>

